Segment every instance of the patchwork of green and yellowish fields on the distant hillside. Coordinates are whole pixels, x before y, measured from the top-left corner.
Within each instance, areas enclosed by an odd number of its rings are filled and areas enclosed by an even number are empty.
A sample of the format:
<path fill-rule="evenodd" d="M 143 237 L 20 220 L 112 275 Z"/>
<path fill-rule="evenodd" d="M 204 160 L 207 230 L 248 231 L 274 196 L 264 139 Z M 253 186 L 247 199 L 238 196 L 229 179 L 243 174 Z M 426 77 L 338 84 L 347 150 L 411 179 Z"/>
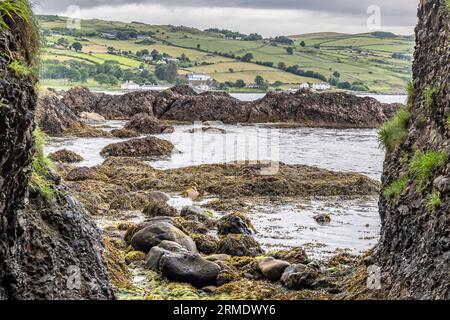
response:
<path fill-rule="evenodd" d="M 304 82 L 321 82 L 316 78 L 300 76 L 278 69 L 279 63 L 286 66 L 298 65 L 304 71 L 320 73 L 327 79 L 338 72 L 340 81 L 363 82 L 371 92 L 400 93 L 404 91 L 411 78 L 411 60 L 399 60 L 394 53 L 412 56 L 414 39 L 387 33 L 341 34 L 316 33 L 291 36 L 294 45 L 274 44 L 269 39 L 244 41 L 227 39 L 222 34 L 204 32 L 192 28 L 155 26 L 142 23 L 122 23 L 101 20 L 83 20 L 81 34 L 66 32 L 63 17 L 40 16 L 40 25 L 47 31 L 45 41 L 48 46 L 42 52 L 42 60 L 76 60 L 98 64 L 108 60 L 116 61 L 124 70 L 137 69 L 142 61 L 136 57 L 112 55 L 108 47 L 115 50 L 135 53 L 143 49 L 154 49 L 172 57 L 185 54 L 191 66 L 181 67 L 180 74 L 205 72 L 218 82 L 242 79 L 247 84 L 257 75 L 269 83 L 282 82 L 283 88 L 293 87 Z M 100 37 L 100 33 L 110 30 L 136 30 L 152 32 L 155 44 L 138 44 L 138 40 L 115 40 Z M 60 32 L 61 34 L 55 34 Z M 68 43 L 79 41 L 81 52 L 64 46 L 54 45 L 58 39 L 65 38 Z M 304 41 L 305 46 L 300 43 Z M 52 44 L 52 45 L 50 45 Z M 287 48 L 294 49 L 293 54 Z M 250 62 L 240 58 L 251 53 Z M 225 57 L 227 56 L 227 57 Z M 256 62 L 272 63 L 273 67 L 262 66 Z M 154 65 L 146 68 L 154 72 Z M 89 83 L 90 84 L 90 83 Z"/>

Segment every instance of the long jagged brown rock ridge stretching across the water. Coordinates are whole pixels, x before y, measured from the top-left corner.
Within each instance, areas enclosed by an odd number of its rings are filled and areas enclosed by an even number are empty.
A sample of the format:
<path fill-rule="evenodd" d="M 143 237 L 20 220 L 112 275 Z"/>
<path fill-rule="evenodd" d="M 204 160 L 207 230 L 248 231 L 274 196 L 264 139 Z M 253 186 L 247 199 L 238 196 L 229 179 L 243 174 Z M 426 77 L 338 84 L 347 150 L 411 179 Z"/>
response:
<path fill-rule="evenodd" d="M 186 86 L 163 92 L 144 91 L 124 95 L 92 93 L 78 87 L 64 93 L 59 102 L 76 115 L 95 112 L 107 119 L 130 119 L 140 113 L 147 114 L 145 121 L 141 115 L 126 128 L 151 134 L 168 130 L 158 126 L 157 119 L 224 123 L 294 122 L 312 127 L 375 128 L 400 107 L 346 93 L 305 90 L 269 93 L 257 101 L 244 102 L 221 92 L 197 94 Z"/>

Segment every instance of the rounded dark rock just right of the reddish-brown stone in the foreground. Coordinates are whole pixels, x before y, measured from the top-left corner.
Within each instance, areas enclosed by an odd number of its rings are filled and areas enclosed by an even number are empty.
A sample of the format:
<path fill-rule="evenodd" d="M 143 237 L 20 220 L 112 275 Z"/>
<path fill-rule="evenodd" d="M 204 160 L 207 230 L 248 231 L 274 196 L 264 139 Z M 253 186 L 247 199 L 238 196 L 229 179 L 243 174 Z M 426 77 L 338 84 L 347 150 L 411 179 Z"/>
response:
<path fill-rule="evenodd" d="M 314 268 L 303 264 L 294 264 L 286 268 L 281 276 L 281 283 L 288 289 L 311 289 L 318 276 L 319 274 Z"/>

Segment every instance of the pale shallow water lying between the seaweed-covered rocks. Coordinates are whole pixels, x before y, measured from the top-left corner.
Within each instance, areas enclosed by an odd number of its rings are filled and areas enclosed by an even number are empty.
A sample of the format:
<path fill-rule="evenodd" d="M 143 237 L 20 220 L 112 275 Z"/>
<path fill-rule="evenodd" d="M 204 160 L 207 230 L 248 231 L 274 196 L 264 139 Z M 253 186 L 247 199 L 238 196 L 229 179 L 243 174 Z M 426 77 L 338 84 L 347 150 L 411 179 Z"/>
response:
<path fill-rule="evenodd" d="M 108 121 L 108 128 L 120 128 L 123 121 Z M 235 160 L 281 160 L 287 164 L 305 164 L 320 168 L 357 172 L 379 180 L 384 152 L 377 132 L 372 129 L 293 128 L 268 129 L 265 125 L 222 125 L 221 133 L 189 133 L 192 126 L 179 125 L 173 134 L 158 135 L 170 140 L 178 150 L 171 159 L 153 161 L 156 168 L 180 168 L 191 165 L 224 163 Z M 196 126 L 201 126 L 197 124 Z M 52 138 L 46 152 L 67 148 L 85 159 L 79 166 L 94 166 L 104 159 L 103 147 L 124 141 L 116 138 Z M 326 256 L 336 249 L 359 253 L 378 241 L 380 219 L 378 199 L 292 199 L 284 203 L 252 204 L 248 214 L 257 229 L 257 240 L 266 249 L 304 246 L 313 256 Z M 201 205 L 180 196 L 169 203 Z M 313 217 L 328 213 L 331 223 L 319 225 Z M 136 213 L 132 220 L 142 219 Z"/>

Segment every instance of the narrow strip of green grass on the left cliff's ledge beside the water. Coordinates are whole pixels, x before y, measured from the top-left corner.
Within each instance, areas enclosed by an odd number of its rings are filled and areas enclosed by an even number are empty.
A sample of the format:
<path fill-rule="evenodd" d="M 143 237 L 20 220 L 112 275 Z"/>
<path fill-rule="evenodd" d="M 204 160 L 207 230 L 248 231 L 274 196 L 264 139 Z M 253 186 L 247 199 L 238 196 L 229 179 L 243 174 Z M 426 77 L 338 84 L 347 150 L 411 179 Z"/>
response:
<path fill-rule="evenodd" d="M 46 137 L 38 128 L 33 132 L 35 139 L 35 154 L 33 157 L 33 171 L 30 179 L 30 188 L 39 192 L 44 199 L 51 200 L 54 196 L 54 190 L 48 181 L 48 170 L 53 163 L 44 156 L 44 144 Z"/>

